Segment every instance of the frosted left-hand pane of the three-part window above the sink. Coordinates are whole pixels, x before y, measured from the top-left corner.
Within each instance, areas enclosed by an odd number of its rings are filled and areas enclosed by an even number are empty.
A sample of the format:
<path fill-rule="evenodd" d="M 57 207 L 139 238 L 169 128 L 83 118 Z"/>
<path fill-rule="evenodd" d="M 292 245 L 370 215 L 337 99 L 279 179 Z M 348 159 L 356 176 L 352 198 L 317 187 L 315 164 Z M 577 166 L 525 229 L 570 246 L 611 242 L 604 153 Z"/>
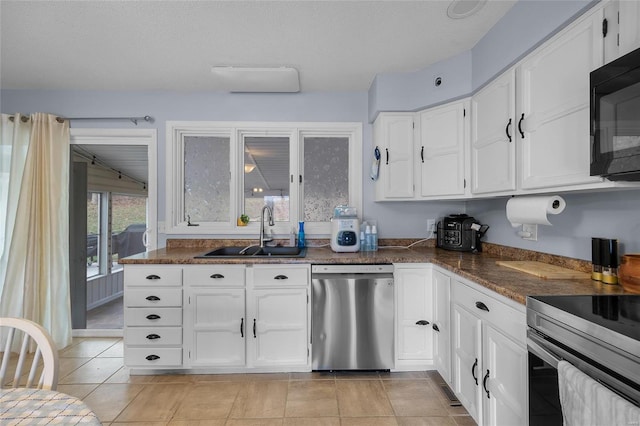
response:
<path fill-rule="evenodd" d="M 231 190 L 229 137 L 184 138 L 184 212 L 192 223 L 228 222 Z"/>

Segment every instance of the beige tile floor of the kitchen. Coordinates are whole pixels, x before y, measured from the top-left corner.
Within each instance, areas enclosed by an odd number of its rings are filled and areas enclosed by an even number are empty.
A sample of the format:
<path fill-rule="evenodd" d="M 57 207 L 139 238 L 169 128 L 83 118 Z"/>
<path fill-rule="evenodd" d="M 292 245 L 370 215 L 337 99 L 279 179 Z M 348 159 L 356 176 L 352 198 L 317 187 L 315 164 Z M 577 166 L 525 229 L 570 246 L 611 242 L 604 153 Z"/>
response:
<path fill-rule="evenodd" d="M 130 376 L 120 338 L 74 338 L 58 389 L 105 425 L 475 425 L 434 372 Z"/>

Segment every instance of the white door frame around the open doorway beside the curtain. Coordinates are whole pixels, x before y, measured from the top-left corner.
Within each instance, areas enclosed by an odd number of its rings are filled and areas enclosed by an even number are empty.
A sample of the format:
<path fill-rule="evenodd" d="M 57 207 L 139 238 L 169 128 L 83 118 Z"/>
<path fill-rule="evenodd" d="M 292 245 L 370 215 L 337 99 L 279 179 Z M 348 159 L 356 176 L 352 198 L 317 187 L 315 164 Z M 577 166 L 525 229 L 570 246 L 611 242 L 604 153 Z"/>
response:
<path fill-rule="evenodd" d="M 147 243 L 158 245 L 158 132 L 156 129 L 69 129 L 71 145 L 145 145 L 147 147 Z M 124 330 L 74 329 L 74 337 L 122 337 Z"/>

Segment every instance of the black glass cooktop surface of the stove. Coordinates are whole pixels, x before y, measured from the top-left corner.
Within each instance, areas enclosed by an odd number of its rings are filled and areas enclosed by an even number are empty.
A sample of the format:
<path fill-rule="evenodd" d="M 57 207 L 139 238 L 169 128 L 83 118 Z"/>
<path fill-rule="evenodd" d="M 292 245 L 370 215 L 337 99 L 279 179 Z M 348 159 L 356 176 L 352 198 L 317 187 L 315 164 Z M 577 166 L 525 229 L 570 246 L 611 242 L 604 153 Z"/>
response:
<path fill-rule="evenodd" d="M 640 340 L 640 295 L 529 297 L 584 321 Z"/>

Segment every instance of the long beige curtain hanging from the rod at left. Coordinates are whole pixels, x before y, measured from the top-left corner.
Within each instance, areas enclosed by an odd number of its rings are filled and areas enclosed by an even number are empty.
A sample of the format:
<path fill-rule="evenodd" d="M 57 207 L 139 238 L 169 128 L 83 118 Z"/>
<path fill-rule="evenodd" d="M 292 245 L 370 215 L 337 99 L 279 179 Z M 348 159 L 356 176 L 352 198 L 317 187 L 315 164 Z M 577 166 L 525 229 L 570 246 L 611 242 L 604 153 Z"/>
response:
<path fill-rule="evenodd" d="M 7 134 L 18 142 L 17 153 L 23 149 L 25 131 L 19 118 L 15 116 L 10 129 L 2 117 L 3 149 Z M 26 124 L 30 131 L 23 170 L 10 170 L 14 191 L 6 197 L 6 210 L 14 214 L 11 220 L 7 215 L 5 226 L 0 316 L 35 321 L 50 332 L 58 348 L 64 348 L 71 343 L 69 123 L 36 113 Z M 12 160 L 13 154 L 12 150 Z"/>

